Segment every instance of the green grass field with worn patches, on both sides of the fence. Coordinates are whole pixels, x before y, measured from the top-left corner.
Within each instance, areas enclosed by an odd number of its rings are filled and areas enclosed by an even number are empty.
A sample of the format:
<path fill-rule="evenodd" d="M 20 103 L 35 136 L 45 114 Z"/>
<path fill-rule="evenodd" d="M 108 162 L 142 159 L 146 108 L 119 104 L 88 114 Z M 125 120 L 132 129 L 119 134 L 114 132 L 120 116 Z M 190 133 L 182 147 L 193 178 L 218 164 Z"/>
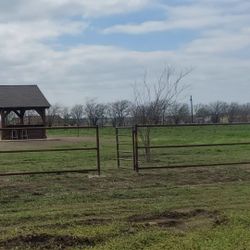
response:
<path fill-rule="evenodd" d="M 122 131 L 124 144 L 131 143 Z M 127 136 L 126 136 L 127 135 Z M 91 147 L 94 131 L 49 131 L 47 142 L 0 150 Z M 250 126 L 152 129 L 152 145 L 249 142 Z M 117 169 L 115 132 L 100 130 L 94 173 L 0 177 L 0 249 L 250 249 L 250 165 Z M 141 143 L 140 143 L 141 145 Z M 250 161 L 249 146 L 153 150 L 142 166 Z M 130 151 L 131 146 L 121 146 Z M 95 152 L 1 154 L 0 172 L 95 167 Z"/>

